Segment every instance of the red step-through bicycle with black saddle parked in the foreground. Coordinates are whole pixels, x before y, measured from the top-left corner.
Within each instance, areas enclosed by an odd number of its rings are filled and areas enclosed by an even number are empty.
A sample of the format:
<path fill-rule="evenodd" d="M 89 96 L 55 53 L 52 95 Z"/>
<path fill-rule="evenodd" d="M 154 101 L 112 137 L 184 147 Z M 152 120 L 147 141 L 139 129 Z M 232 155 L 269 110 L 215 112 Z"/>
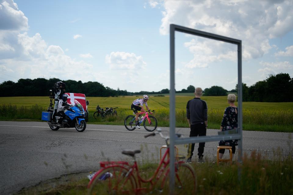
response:
<path fill-rule="evenodd" d="M 161 129 L 144 137 L 159 134 L 165 139 L 167 149 L 160 161 L 154 175 L 149 179 L 143 179 L 139 174 L 135 154 L 140 150 L 123 150 L 122 154 L 133 158 L 133 164 L 126 161 L 103 161 L 100 162 L 101 169 L 96 172 L 88 184 L 88 194 L 146 194 L 161 193 L 168 189 L 169 179 L 169 137 L 164 137 Z M 180 137 L 180 134 L 176 134 Z M 177 159 L 185 158 L 176 156 Z M 147 185 L 144 185 L 147 184 Z M 166 185 L 167 184 L 167 185 Z M 175 194 L 195 194 L 197 180 L 194 169 L 184 161 L 175 161 Z M 155 191 L 157 190 L 157 191 Z"/>

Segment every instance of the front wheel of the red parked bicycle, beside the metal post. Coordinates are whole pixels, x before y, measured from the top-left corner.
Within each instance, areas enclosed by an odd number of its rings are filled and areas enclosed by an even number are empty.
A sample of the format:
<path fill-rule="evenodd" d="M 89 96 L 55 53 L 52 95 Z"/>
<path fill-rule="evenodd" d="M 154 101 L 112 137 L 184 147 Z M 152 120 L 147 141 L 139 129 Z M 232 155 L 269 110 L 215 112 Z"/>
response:
<path fill-rule="evenodd" d="M 185 162 L 178 162 L 176 165 L 175 171 L 175 186 L 174 194 L 195 194 L 197 190 L 197 178 L 194 169 L 191 165 Z M 169 170 L 170 174 L 170 170 Z M 168 174 L 169 181 L 170 175 Z M 163 182 L 161 186 L 162 189 L 169 189 L 169 182 Z"/>

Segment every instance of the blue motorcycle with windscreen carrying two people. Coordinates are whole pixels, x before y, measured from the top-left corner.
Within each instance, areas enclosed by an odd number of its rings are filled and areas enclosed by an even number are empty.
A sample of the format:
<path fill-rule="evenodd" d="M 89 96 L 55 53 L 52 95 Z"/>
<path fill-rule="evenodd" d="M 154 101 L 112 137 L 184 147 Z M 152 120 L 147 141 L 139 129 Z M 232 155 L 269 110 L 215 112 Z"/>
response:
<path fill-rule="evenodd" d="M 74 105 L 65 104 L 64 106 L 66 109 L 64 110 L 65 117 L 62 120 L 62 125 L 47 121 L 50 129 L 57 131 L 59 128 L 75 127 L 78 132 L 83 132 L 86 128 L 86 122 L 83 118 L 85 116 L 85 110 L 82 105 L 77 100 L 74 100 Z M 56 116 L 56 119 L 58 117 L 60 118 L 60 116 Z"/>

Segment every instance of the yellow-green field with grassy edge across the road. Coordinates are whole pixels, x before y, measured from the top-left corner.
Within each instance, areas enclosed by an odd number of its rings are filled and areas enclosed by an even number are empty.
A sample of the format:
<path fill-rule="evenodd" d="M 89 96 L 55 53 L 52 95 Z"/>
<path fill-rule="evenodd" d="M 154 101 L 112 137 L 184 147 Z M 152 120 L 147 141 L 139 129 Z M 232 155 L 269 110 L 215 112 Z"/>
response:
<path fill-rule="evenodd" d="M 89 123 L 123 125 L 127 115 L 131 115 L 132 101 L 140 96 L 87 97 L 89 100 Z M 188 127 L 186 121 L 186 103 L 191 96 L 176 96 L 176 126 Z M 208 105 L 208 128 L 219 129 L 225 108 L 226 96 L 202 96 Z M 0 120 L 41 120 L 41 112 L 49 106 L 49 97 L 3 97 L 0 98 Z M 96 106 L 118 107 L 117 117 L 94 119 Z M 236 103 L 237 105 L 237 103 Z M 169 96 L 150 96 L 150 109 L 158 126 L 169 126 Z M 243 102 L 243 129 L 257 131 L 293 132 L 293 102 Z"/>

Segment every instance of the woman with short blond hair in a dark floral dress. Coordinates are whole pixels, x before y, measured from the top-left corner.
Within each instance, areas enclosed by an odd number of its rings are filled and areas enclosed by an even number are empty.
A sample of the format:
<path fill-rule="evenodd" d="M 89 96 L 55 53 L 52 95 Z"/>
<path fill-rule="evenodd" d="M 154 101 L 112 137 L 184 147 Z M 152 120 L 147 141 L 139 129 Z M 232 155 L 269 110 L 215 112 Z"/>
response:
<path fill-rule="evenodd" d="M 225 109 L 224 116 L 222 119 L 221 131 L 231 130 L 238 128 L 238 108 L 235 106 L 236 96 L 234 94 L 228 95 L 228 104 L 230 105 Z M 238 140 L 222 140 L 219 141 L 219 146 L 231 146 L 232 147 L 232 158 L 235 154 L 236 147 L 238 145 Z M 223 157 L 225 149 L 219 150 L 219 158 Z"/>

